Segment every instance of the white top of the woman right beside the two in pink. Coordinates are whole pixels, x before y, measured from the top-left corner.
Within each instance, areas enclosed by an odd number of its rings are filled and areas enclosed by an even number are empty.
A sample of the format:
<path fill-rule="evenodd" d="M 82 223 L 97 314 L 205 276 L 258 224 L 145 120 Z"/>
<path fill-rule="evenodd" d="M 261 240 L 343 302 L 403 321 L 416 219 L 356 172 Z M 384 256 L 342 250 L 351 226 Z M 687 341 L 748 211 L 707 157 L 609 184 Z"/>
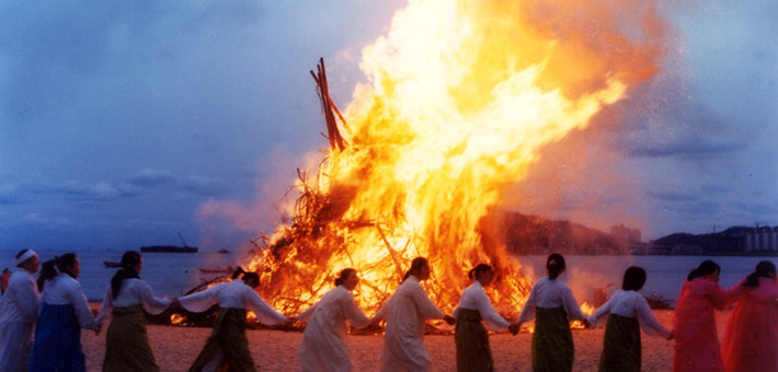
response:
<path fill-rule="evenodd" d="M 597 311 L 588 317 L 591 324 L 596 324 L 597 319 L 605 314 L 616 314 L 626 317 L 637 317 L 640 327 L 648 335 L 661 335 L 670 337 L 670 330 L 656 321 L 654 313 L 649 307 L 642 294 L 637 291 L 618 290 Z"/>

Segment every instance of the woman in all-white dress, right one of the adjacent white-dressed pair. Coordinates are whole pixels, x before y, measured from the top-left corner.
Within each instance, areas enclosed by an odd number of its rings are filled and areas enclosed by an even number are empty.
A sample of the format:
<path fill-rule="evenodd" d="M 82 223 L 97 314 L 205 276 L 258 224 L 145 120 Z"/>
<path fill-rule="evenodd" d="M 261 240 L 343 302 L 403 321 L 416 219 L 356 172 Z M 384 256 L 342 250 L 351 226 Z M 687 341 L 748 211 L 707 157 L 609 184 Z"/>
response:
<path fill-rule="evenodd" d="M 424 321 L 455 322 L 437 309 L 424 292 L 420 282 L 428 278 L 430 264 L 426 258 L 414 258 L 394 294 L 374 316 L 374 322 L 387 319 L 381 352 L 382 372 L 430 371 L 430 356 L 424 348 Z"/>

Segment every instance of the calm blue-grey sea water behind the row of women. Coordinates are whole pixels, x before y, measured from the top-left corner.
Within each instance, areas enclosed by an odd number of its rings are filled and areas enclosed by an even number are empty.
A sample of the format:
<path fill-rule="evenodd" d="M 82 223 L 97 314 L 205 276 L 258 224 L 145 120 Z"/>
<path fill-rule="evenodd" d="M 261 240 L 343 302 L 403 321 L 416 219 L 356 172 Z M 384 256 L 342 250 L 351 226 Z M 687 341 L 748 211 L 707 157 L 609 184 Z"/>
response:
<path fill-rule="evenodd" d="M 61 255 L 61 251 L 38 252 L 41 261 Z M 13 257 L 16 252 L 0 251 L 0 269 L 13 268 Z M 87 251 L 77 252 L 81 263 L 81 276 L 78 278 L 90 301 L 102 300 L 111 277 L 116 268 L 105 268 L 106 260 L 119 261 L 123 252 L 119 251 Z M 240 253 L 144 253 L 144 268 L 140 278 L 155 289 L 158 295 L 169 298 L 180 297 L 190 289 L 210 280 L 220 274 L 203 272 L 201 269 L 226 269 L 244 263 Z M 699 263 L 712 259 L 721 266 L 719 284 L 729 288 L 736 284 L 754 270 L 760 260 L 778 264 L 778 257 L 743 257 L 743 256 L 630 256 L 630 255 L 565 255 L 568 270 L 561 279 L 567 281 L 580 301 L 591 302 L 594 291 L 606 289 L 608 292 L 620 288 L 623 271 L 629 266 L 640 266 L 645 269 L 648 280 L 643 287 L 643 295 L 665 301 L 674 306 L 675 299 L 686 280 L 686 276 Z M 545 276 L 545 255 L 520 256 L 522 272 L 533 281 Z M 435 268 L 433 267 L 433 272 Z M 434 274 L 433 274 L 434 275 Z"/>

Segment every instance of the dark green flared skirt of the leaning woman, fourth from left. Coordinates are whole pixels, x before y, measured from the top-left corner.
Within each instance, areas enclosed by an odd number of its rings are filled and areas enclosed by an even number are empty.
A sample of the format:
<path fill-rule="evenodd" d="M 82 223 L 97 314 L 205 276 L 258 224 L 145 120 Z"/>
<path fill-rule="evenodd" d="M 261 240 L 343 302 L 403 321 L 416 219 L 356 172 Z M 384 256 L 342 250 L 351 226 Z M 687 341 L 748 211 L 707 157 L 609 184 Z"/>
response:
<path fill-rule="evenodd" d="M 188 372 L 203 371 L 219 352 L 222 353 L 219 371 L 256 372 L 245 338 L 245 309 L 219 309 L 214 330 Z"/>

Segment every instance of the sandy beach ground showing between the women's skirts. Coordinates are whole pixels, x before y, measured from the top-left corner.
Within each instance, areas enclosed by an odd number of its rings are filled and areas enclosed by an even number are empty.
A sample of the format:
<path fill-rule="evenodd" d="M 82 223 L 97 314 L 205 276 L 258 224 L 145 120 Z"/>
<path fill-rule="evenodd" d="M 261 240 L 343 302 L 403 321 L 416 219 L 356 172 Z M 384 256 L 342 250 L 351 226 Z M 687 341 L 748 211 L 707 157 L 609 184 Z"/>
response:
<path fill-rule="evenodd" d="M 659 321 L 671 328 L 673 311 L 654 311 Z M 719 339 L 723 334 L 729 312 L 717 312 Z M 604 328 L 573 332 L 575 364 L 573 371 L 597 370 L 603 349 Z M 197 357 L 210 328 L 148 326 L 151 348 L 162 371 L 186 371 Z M 249 348 L 260 371 L 299 371 L 297 348 L 302 333 L 279 330 L 247 330 Z M 495 334 L 490 336 L 496 371 L 531 371 L 531 334 L 517 336 Z M 83 332 L 81 336 L 87 353 L 88 371 L 100 371 L 105 352 L 105 334 Z M 673 341 L 642 335 L 643 371 L 672 370 Z M 382 336 L 348 336 L 347 344 L 356 371 L 378 371 L 384 345 Z M 427 351 L 433 371 L 455 371 L 454 336 L 426 336 Z"/>

